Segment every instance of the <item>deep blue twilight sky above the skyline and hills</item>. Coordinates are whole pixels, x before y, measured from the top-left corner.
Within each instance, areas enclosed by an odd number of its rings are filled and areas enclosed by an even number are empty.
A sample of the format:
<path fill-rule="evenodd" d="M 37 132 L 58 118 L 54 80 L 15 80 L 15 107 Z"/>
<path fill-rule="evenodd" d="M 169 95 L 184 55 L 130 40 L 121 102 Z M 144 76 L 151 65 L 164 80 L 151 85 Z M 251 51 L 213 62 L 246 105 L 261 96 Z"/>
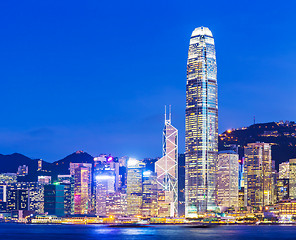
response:
<path fill-rule="evenodd" d="M 164 105 L 184 151 L 191 32 L 218 64 L 219 132 L 296 120 L 295 1 L 3 0 L 0 153 L 161 156 Z"/>

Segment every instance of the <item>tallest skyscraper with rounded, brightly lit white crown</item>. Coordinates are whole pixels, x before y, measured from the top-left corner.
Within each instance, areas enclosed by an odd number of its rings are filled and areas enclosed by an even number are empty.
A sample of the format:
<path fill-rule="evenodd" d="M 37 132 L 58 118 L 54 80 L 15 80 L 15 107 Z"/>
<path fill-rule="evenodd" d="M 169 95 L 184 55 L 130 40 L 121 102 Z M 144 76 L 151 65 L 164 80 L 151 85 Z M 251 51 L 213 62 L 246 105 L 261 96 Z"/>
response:
<path fill-rule="evenodd" d="M 196 217 L 216 207 L 218 156 L 217 65 L 207 27 L 191 35 L 186 85 L 185 214 Z"/>

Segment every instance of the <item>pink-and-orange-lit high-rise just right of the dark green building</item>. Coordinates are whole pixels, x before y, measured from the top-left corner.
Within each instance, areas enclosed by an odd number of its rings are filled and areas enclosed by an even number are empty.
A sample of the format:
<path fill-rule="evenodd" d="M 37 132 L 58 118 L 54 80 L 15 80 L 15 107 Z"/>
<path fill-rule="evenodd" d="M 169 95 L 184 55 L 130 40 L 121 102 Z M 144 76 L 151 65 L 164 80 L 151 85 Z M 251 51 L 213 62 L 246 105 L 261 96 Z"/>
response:
<path fill-rule="evenodd" d="M 74 175 L 74 214 L 89 214 L 92 210 L 92 164 L 70 163 L 70 173 Z"/>

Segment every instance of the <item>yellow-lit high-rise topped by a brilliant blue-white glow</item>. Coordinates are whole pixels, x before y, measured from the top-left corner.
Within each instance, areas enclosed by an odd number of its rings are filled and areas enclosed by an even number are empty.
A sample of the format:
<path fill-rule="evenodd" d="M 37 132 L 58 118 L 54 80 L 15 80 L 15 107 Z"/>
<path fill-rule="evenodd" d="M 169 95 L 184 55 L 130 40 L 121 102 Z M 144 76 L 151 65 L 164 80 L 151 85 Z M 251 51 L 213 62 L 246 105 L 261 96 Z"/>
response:
<path fill-rule="evenodd" d="M 143 169 L 145 164 L 130 158 L 127 162 L 127 215 L 141 215 L 143 201 Z"/>

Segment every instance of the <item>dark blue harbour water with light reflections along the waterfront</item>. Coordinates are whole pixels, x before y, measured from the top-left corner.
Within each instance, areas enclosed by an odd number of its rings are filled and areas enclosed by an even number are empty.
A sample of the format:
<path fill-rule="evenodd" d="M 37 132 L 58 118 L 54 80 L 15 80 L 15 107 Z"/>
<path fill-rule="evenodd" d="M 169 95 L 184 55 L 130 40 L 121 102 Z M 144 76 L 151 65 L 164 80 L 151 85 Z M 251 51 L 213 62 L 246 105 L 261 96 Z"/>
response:
<path fill-rule="evenodd" d="M 257 240 L 296 239 L 296 226 L 218 226 L 185 228 L 149 226 L 110 228 L 103 225 L 25 225 L 0 224 L 1 240 Z"/>

